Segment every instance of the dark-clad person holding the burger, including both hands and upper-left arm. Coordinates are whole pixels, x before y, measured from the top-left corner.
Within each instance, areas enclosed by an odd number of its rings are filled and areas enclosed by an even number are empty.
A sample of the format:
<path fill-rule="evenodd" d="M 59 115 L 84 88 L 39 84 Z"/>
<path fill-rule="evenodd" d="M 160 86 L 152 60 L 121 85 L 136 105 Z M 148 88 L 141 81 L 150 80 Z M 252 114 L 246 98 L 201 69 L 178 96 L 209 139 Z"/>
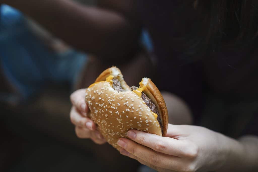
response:
<path fill-rule="evenodd" d="M 132 140 L 118 141 L 122 154 L 159 171 L 258 170 L 256 1 L 26 2 L 5 3 L 110 65 L 130 61 L 148 29 L 157 56 L 153 80 L 166 91 L 172 123 L 186 125 L 170 124 L 166 137 L 131 130 Z M 71 100 L 77 135 L 103 143 L 85 117 L 83 91 Z"/>

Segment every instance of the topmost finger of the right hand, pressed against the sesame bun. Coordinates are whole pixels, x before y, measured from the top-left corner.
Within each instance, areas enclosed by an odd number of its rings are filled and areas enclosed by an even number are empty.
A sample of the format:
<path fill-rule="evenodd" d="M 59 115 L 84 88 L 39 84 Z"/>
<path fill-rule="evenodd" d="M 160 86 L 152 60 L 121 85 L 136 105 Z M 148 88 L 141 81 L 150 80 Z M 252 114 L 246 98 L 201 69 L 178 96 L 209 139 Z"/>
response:
<path fill-rule="evenodd" d="M 187 142 L 176 140 L 170 137 L 162 137 L 156 134 L 145 133 L 139 130 L 129 130 L 127 136 L 133 141 L 147 146 L 157 152 L 185 157 L 185 149 L 187 148 Z"/>

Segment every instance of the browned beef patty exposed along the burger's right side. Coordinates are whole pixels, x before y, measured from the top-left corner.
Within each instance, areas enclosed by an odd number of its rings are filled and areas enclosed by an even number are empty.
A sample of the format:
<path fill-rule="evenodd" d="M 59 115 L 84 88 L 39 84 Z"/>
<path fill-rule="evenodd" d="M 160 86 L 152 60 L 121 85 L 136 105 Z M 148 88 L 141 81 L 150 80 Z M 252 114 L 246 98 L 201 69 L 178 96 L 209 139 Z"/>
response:
<path fill-rule="evenodd" d="M 133 91 L 134 89 L 137 89 L 138 87 L 132 86 L 130 89 Z M 159 111 L 156 107 L 156 105 L 150 100 L 150 98 L 142 92 L 142 100 L 146 103 L 146 105 L 151 109 L 152 112 L 156 113 L 158 115 L 157 120 L 159 122 L 161 132 L 163 135 L 163 125 L 162 125 L 162 119 L 160 118 Z"/>

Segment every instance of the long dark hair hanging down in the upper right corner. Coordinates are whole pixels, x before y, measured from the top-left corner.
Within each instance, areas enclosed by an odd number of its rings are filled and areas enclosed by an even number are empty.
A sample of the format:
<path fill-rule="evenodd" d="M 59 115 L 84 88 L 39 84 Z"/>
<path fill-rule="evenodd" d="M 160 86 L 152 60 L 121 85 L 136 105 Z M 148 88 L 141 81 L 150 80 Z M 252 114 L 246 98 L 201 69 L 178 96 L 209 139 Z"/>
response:
<path fill-rule="evenodd" d="M 240 50 L 255 42 L 257 0 L 192 0 L 184 5 L 191 6 L 188 15 L 196 15 L 188 36 L 183 38 L 187 41 L 186 54 L 218 52 L 225 46 Z"/>

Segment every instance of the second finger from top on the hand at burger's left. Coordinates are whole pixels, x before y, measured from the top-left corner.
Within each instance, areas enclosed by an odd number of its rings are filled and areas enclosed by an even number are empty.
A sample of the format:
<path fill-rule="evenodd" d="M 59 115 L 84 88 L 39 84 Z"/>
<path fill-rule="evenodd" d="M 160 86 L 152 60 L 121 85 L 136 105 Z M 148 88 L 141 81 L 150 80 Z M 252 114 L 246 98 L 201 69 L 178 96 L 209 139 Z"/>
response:
<path fill-rule="evenodd" d="M 75 106 L 71 108 L 70 119 L 75 126 L 86 127 L 92 131 L 96 129 L 94 122 L 90 118 L 81 116 Z"/>

